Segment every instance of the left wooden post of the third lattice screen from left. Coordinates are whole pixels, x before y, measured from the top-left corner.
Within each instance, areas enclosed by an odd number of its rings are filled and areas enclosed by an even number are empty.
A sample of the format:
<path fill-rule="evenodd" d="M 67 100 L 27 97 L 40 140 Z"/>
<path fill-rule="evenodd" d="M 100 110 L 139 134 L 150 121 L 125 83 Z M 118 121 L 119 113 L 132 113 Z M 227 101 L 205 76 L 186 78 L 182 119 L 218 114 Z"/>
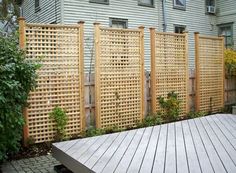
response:
<path fill-rule="evenodd" d="M 150 45 L 151 45 L 151 112 L 155 114 L 156 110 L 156 31 L 150 28 Z"/>

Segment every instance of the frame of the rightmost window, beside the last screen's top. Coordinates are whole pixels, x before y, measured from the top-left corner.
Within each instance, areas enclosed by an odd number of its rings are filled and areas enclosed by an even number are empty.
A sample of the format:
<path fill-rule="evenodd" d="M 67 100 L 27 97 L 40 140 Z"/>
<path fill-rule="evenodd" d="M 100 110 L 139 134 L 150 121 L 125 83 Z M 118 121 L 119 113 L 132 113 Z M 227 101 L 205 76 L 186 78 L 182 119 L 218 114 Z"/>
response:
<path fill-rule="evenodd" d="M 230 22 L 230 23 L 222 23 L 222 24 L 218 24 L 218 35 L 219 36 L 224 36 L 224 39 L 226 42 L 224 42 L 224 46 L 225 48 L 233 48 L 234 47 L 234 30 L 233 30 L 233 24 L 234 22 Z M 230 27 L 230 32 L 231 32 L 231 38 L 232 38 L 232 43 L 231 44 L 227 44 L 227 39 L 225 35 L 222 35 L 222 28 L 226 28 L 226 27 Z"/>

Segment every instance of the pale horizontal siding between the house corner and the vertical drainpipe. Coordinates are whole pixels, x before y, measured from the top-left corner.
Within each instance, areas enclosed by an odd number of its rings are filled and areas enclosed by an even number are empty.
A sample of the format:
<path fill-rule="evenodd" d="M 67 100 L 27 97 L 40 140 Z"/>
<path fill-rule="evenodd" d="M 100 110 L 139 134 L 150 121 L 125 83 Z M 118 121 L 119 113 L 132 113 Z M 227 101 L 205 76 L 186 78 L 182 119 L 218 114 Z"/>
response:
<path fill-rule="evenodd" d="M 110 0 L 109 5 L 90 3 L 89 0 L 64 0 L 64 23 L 85 21 L 85 71 L 94 70 L 93 23 L 109 26 L 109 18 L 128 19 L 128 28 L 145 26 L 145 69 L 150 71 L 149 27 L 158 26 L 157 1 L 155 8 L 139 6 L 137 0 Z"/>

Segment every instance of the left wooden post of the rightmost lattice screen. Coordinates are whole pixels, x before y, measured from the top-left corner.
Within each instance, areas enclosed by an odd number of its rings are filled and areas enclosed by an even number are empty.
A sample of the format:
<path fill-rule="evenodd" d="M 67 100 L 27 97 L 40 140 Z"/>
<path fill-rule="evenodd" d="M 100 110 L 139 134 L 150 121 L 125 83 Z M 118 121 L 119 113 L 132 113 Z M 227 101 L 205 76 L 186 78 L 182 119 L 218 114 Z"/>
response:
<path fill-rule="evenodd" d="M 195 109 L 200 111 L 200 70 L 199 70 L 199 32 L 194 33 L 195 38 L 195 76 L 196 76 L 196 94 L 195 94 Z"/>

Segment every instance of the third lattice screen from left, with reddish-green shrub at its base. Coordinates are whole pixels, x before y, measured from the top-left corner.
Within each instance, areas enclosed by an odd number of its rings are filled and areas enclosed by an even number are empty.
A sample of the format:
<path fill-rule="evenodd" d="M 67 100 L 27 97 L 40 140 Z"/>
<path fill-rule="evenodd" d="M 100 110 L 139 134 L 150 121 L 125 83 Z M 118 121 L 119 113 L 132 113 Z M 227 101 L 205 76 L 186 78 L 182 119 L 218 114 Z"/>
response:
<path fill-rule="evenodd" d="M 161 111 L 158 97 L 178 94 L 181 116 L 188 112 L 187 33 L 161 33 L 150 29 L 151 36 L 151 108 Z"/>

